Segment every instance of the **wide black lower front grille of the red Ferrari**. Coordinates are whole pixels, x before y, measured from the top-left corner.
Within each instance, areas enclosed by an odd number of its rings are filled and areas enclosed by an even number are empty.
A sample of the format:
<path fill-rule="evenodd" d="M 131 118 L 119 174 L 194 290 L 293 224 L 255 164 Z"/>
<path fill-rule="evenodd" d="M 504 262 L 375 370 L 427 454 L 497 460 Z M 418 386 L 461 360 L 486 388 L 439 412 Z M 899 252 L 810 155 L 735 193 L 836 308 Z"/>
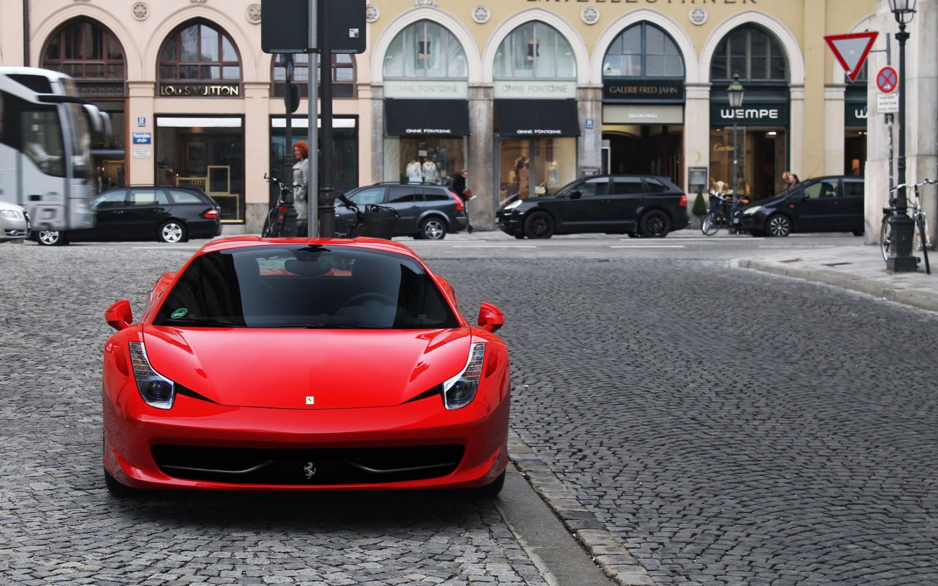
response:
<path fill-rule="evenodd" d="M 438 478 L 456 470 L 461 445 L 258 449 L 155 445 L 163 473 L 187 480 L 262 485 L 385 484 Z"/>

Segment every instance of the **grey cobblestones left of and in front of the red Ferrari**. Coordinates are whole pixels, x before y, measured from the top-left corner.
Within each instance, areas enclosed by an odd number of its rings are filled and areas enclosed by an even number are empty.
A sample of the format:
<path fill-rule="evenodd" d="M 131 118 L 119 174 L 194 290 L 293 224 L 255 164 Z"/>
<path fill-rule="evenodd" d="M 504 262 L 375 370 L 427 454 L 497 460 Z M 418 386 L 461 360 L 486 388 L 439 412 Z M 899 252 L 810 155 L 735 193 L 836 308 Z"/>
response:
<path fill-rule="evenodd" d="M 139 312 L 189 254 L 0 247 L 0 584 L 546 583 L 492 502 L 457 492 L 109 497 L 102 312 Z"/>

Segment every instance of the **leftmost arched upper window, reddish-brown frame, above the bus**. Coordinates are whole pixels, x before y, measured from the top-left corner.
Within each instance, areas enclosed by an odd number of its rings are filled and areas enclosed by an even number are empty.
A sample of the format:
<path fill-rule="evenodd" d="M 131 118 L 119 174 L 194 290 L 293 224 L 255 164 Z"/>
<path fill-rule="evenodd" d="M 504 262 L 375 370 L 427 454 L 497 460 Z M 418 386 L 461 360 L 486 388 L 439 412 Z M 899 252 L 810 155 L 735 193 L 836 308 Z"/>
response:
<path fill-rule="evenodd" d="M 123 80 L 124 49 L 107 28 L 80 19 L 64 24 L 49 38 L 42 67 L 78 80 Z"/>

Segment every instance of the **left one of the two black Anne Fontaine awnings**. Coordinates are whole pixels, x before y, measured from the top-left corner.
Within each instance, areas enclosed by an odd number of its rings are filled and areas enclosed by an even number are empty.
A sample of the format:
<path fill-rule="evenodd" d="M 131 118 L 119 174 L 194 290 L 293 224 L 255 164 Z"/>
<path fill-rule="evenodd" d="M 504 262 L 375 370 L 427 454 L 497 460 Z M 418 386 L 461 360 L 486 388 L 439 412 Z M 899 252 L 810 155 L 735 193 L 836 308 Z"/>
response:
<path fill-rule="evenodd" d="M 469 136 L 465 99 L 386 99 L 386 132 L 391 136 Z"/>

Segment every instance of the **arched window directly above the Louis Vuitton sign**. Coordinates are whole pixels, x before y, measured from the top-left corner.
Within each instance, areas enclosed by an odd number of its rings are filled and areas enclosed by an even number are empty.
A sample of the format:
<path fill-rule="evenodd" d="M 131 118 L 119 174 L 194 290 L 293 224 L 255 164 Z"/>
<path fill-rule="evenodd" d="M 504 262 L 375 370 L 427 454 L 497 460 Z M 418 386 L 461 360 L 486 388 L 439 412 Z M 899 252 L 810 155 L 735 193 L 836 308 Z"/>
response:
<path fill-rule="evenodd" d="M 186 23 L 159 51 L 161 81 L 239 81 L 241 61 L 234 43 L 208 23 Z"/>

